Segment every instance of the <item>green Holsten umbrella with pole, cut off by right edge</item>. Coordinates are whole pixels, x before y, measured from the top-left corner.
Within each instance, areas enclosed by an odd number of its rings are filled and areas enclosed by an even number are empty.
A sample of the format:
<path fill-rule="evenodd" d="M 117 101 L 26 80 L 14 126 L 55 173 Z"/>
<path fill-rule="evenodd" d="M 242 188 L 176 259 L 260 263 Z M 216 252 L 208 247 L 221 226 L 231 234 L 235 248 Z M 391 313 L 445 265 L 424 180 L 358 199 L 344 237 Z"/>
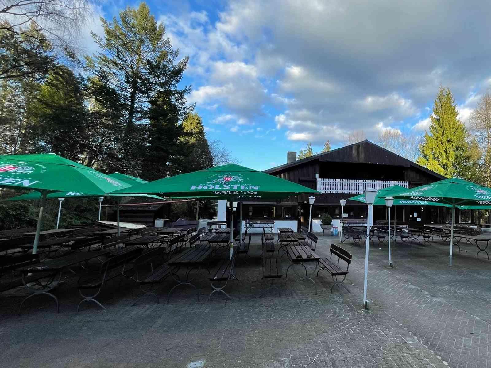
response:
<path fill-rule="evenodd" d="M 452 206 L 452 226 L 450 230 L 449 264 L 452 265 L 455 207 L 477 206 L 484 209 L 491 206 L 491 188 L 452 178 L 432 184 L 421 185 L 393 195 L 394 199 L 428 201 Z"/>

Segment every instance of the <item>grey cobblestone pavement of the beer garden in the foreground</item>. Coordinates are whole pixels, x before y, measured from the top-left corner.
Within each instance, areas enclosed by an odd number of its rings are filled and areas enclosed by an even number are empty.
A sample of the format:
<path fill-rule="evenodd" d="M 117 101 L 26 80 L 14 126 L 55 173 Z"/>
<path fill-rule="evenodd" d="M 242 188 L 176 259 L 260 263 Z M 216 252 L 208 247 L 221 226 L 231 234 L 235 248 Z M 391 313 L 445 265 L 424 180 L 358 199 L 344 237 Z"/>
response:
<path fill-rule="evenodd" d="M 260 240 L 257 237 L 257 241 Z M 53 300 L 33 297 L 22 315 L 17 309 L 23 291 L 0 298 L 0 367 L 176 367 L 205 361 L 205 367 L 491 367 L 488 334 L 491 263 L 475 246 L 455 254 L 449 267 L 448 246 L 397 244 L 394 267 L 387 267 L 387 249 L 371 247 L 368 298 L 362 309 L 364 249 L 341 246 L 353 253 L 346 285 L 335 288 L 326 272 L 294 285 L 288 274 L 282 297 L 261 281 L 259 244 L 251 258 L 237 265 L 239 281 L 226 291 L 232 300 L 211 291 L 204 271 L 196 280 L 200 301 L 191 288 L 177 289 L 166 304 L 172 283 L 159 292 L 161 304 L 144 298 L 131 281 L 112 282 L 99 300 L 108 308 L 86 304 L 65 279 Z M 317 252 L 328 255 L 321 237 Z M 290 263 L 283 257 L 283 269 Z M 205 275 L 206 274 L 206 275 Z M 293 294 L 290 292 L 293 289 Z M 448 362 L 448 363 L 447 363 Z"/>

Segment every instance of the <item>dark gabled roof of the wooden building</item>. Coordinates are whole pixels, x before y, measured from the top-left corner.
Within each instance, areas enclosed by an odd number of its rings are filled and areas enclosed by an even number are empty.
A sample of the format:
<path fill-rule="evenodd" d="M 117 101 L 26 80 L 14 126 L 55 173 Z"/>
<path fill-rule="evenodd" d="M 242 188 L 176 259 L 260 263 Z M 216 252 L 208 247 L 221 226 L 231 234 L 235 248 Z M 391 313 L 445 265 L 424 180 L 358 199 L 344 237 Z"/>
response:
<path fill-rule="evenodd" d="M 368 139 L 364 141 L 350 144 L 348 146 L 336 148 L 331 151 L 323 152 L 317 155 L 312 155 L 307 158 L 302 158 L 293 162 L 285 163 L 280 166 L 273 167 L 271 169 L 264 170 L 265 173 L 273 174 L 278 171 L 289 169 L 296 165 L 319 160 L 319 161 L 334 161 L 334 162 L 359 162 L 359 163 L 374 163 L 381 165 L 396 165 L 396 166 L 412 166 L 416 169 L 424 171 L 430 175 L 435 176 L 438 179 L 446 179 L 444 176 L 437 174 L 436 172 L 427 169 L 421 165 L 418 165 L 411 160 L 399 156 Z"/>

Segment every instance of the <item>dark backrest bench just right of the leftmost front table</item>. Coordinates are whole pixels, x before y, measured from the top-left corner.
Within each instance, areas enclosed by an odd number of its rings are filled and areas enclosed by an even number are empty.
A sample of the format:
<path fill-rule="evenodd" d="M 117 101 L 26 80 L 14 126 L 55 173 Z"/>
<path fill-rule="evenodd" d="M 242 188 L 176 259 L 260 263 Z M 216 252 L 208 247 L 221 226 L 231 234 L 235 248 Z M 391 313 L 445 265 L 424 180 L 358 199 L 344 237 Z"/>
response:
<path fill-rule="evenodd" d="M 127 277 L 126 272 L 133 269 L 134 265 L 131 263 L 139 254 L 141 254 L 141 248 L 133 247 L 132 252 L 125 252 L 114 257 L 110 257 L 103 261 L 101 265 L 101 272 L 94 275 L 94 272 L 89 272 L 82 275 L 78 281 L 79 293 L 82 296 L 82 301 L 77 306 L 77 312 L 83 302 L 93 301 L 102 309 L 106 309 L 99 301 L 95 299 L 101 292 L 102 287 L 110 280 L 117 277 Z M 123 279 L 121 279 L 122 281 Z M 93 292 L 90 292 L 93 290 Z M 90 292 L 90 295 L 87 293 Z"/>

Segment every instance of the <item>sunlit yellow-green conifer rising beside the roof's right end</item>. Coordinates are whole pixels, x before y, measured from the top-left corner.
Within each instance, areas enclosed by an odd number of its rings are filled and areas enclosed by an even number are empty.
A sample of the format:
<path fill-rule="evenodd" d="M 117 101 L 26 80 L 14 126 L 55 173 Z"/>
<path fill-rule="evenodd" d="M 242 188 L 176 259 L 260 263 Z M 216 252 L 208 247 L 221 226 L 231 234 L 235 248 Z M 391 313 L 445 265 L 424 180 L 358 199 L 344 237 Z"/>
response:
<path fill-rule="evenodd" d="M 467 133 L 449 88 L 440 87 L 417 163 L 447 178 L 459 175 L 467 154 Z"/>

